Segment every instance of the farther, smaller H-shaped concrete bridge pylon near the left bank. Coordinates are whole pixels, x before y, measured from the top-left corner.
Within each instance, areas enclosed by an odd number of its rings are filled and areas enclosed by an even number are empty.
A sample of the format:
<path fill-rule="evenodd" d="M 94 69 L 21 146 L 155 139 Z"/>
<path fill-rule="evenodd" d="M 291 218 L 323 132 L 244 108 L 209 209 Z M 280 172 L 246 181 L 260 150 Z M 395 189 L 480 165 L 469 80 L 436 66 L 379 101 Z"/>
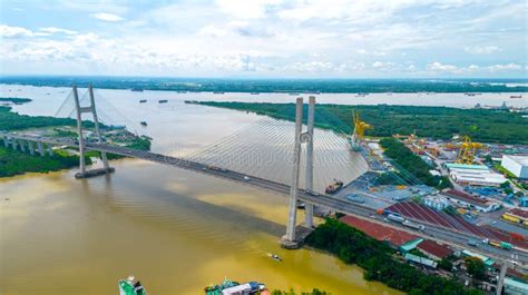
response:
<path fill-rule="evenodd" d="M 108 158 L 107 158 L 105 151 L 100 151 L 101 160 L 102 160 L 102 168 L 92 169 L 92 170 L 87 170 L 86 169 L 86 163 L 85 163 L 86 140 L 85 140 L 85 136 L 84 136 L 84 132 L 82 132 L 82 114 L 90 112 L 92 115 L 97 141 L 99 144 L 101 144 L 102 139 L 101 139 L 101 135 L 100 135 L 100 130 L 99 130 L 99 119 L 97 118 L 96 100 L 94 98 L 94 88 L 91 87 L 91 85 L 88 88 L 88 92 L 89 92 L 89 96 L 90 96 L 90 106 L 88 106 L 88 107 L 81 107 L 80 106 L 80 100 L 79 100 L 79 94 L 77 91 L 77 86 L 72 87 L 72 91 L 74 91 L 74 99 L 75 99 L 75 106 L 76 106 L 76 112 L 77 112 L 77 134 L 78 134 L 78 138 L 79 138 L 78 141 L 79 141 L 79 168 L 80 168 L 80 171 L 77 173 L 75 175 L 75 177 L 76 178 L 88 178 L 88 177 L 98 176 L 98 175 L 115 171 L 115 168 L 113 168 L 108 165 Z"/>

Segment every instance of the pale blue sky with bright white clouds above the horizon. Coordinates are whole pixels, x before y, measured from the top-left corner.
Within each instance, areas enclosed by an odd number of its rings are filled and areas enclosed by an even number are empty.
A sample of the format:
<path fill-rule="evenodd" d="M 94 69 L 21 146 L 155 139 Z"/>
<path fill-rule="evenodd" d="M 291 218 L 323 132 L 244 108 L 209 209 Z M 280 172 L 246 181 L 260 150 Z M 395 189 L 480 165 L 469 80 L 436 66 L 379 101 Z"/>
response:
<path fill-rule="evenodd" d="M 0 75 L 528 78 L 526 0 L 0 0 Z"/>

